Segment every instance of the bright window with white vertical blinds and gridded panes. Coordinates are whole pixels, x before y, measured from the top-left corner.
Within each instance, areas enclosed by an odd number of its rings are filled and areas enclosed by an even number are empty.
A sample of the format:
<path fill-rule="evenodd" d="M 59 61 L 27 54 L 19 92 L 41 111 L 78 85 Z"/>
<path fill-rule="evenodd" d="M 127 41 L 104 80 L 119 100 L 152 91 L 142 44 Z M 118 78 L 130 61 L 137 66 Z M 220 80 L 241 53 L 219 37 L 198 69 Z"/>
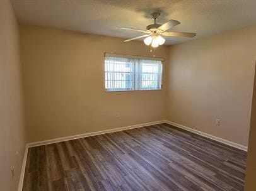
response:
<path fill-rule="evenodd" d="M 105 89 L 159 90 L 161 89 L 161 60 L 146 60 L 129 56 L 105 55 Z"/>

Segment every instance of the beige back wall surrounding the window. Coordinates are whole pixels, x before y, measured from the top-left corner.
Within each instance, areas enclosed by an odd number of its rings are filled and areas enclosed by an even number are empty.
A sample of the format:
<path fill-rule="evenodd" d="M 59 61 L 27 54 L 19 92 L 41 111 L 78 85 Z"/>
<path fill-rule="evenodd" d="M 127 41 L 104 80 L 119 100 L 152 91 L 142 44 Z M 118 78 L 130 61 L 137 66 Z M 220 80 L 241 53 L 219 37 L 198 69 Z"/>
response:
<path fill-rule="evenodd" d="M 20 35 L 28 142 L 165 119 L 165 85 L 104 89 L 103 53 L 152 56 L 143 42 L 26 25 Z M 168 47 L 154 54 L 167 58 Z"/>

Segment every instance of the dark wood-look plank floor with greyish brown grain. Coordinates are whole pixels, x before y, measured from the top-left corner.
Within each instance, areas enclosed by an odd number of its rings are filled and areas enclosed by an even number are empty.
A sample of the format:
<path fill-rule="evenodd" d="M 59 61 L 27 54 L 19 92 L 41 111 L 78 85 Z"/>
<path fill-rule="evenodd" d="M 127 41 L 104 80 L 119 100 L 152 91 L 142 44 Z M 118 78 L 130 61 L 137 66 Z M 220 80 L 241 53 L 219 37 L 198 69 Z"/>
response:
<path fill-rule="evenodd" d="M 246 159 L 160 124 L 30 148 L 23 191 L 243 190 Z"/>

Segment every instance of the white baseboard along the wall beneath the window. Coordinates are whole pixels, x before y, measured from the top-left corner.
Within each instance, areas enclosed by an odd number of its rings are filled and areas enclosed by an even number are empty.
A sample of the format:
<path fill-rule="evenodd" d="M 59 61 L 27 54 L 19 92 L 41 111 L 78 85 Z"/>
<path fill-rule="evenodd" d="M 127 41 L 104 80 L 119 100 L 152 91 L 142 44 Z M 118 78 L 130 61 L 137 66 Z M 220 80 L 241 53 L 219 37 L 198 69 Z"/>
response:
<path fill-rule="evenodd" d="M 40 145 L 48 145 L 48 144 L 52 144 L 52 143 L 59 143 L 62 141 L 69 141 L 69 140 L 73 140 L 73 139 L 79 139 L 79 138 L 85 138 L 88 136 L 95 136 L 98 134 L 106 134 L 106 133 L 113 133 L 116 131 L 124 131 L 127 129 L 135 129 L 135 128 L 142 128 L 144 126 L 151 126 L 154 124 L 161 124 L 161 123 L 165 123 L 165 120 L 163 121 L 153 121 L 153 122 L 149 122 L 149 123 L 142 123 L 142 124 L 135 124 L 132 126 L 125 126 L 125 127 L 121 127 L 121 128 L 114 128 L 114 129 L 107 129 L 107 130 L 103 130 L 103 131 L 96 131 L 96 132 L 91 132 L 91 133 L 84 133 L 84 134 L 76 134 L 73 136 L 66 136 L 63 138 L 55 138 L 55 139 L 48 139 L 45 141 L 38 141 L 38 142 L 34 142 L 34 143 L 28 143 L 27 146 L 28 148 L 33 147 L 33 146 L 40 146 Z"/>

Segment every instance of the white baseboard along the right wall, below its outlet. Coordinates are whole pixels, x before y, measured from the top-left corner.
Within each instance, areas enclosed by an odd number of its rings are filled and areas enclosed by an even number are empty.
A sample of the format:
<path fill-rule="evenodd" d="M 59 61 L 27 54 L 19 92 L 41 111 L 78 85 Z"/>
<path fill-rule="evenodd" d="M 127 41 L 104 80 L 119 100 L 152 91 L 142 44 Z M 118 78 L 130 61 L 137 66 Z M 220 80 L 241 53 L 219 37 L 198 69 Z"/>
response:
<path fill-rule="evenodd" d="M 220 143 L 224 143 L 225 145 L 233 146 L 233 147 L 238 148 L 238 149 L 243 150 L 243 151 L 247 151 L 247 150 L 248 150 L 248 147 L 247 147 L 247 146 L 243 146 L 243 145 L 240 145 L 240 144 L 238 144 L 238 143 L 234 143 L 234 142 L 232 142 L 232 141 L 228 141 L 228 140 L 226 140 L 226 139 L 219 138 L 219 137 L 217 137 L 217 136 L 212 136 L 211 134 L 207 134 L 207 133 L 204 133 L 204 132 L 201 132 L 201 131 L 197 131 L 197 130 L 195 130 L 195 129 L 188 128 L 188 127 L 186 127 L 186 126 L 183 126 L 183 125 L 178 124 L 178 123 L 174 123 L 174 122 L 172 122 L 172 121 L 166 120 L 165 123 L 168 123 L 168 124 L 170 124 L 170 125 L 172 125 L 172 126 L 175 126 L 175 127 L 177 127 L 177 128 L 185 129 L 185 130 L 190 131 L 190 132 L 195 133 L 195 134 L 199 134 L 199 135 L 201 135 L 201 136 L 204 136 L 204 137 L 206 137 L 206 138 L 212 139 L 212 140 L 214 140 L 214 141 L 218 141 L 218 142 L 220 142 Z"/>

